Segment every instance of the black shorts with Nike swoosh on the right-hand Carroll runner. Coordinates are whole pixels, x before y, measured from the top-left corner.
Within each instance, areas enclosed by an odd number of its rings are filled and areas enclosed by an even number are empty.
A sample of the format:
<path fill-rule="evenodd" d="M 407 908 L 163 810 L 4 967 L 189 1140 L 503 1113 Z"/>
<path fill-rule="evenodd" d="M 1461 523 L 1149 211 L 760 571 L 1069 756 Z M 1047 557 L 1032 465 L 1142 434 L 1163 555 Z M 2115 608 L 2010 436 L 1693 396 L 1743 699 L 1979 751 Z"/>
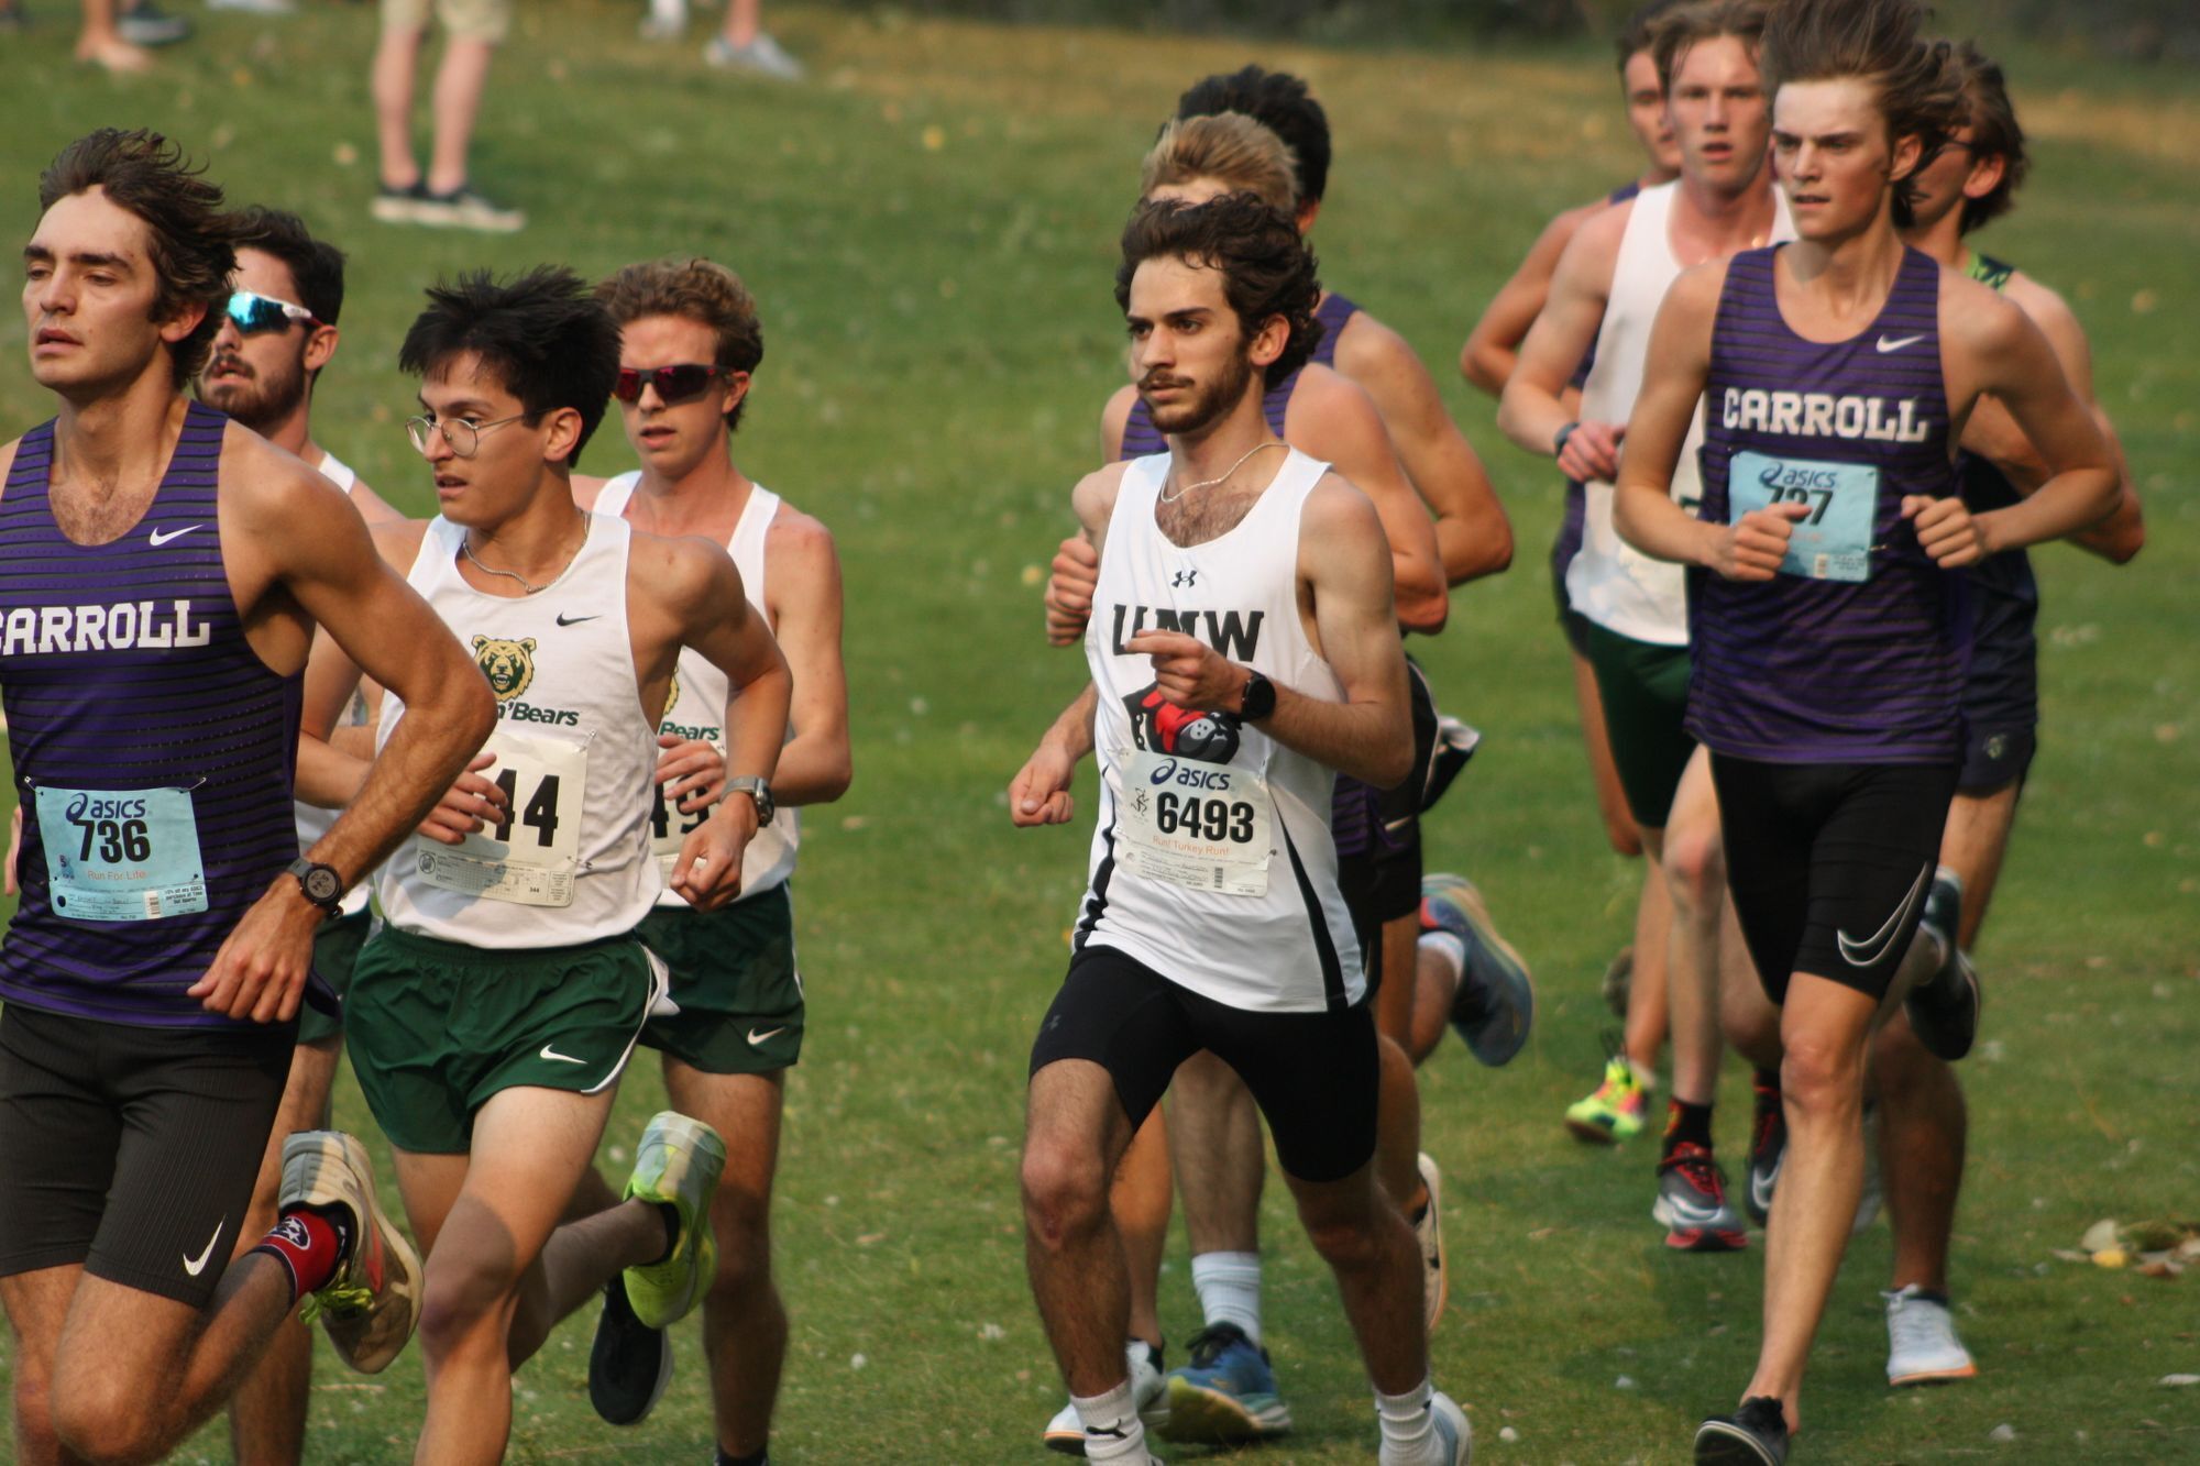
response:
<path fill-rule="evenodd" d="M 1775 1004 L 1811 973 L 1885 997 L 1925 913 L 1954 764 L 1712 755 L 1734 916 Z"/>

